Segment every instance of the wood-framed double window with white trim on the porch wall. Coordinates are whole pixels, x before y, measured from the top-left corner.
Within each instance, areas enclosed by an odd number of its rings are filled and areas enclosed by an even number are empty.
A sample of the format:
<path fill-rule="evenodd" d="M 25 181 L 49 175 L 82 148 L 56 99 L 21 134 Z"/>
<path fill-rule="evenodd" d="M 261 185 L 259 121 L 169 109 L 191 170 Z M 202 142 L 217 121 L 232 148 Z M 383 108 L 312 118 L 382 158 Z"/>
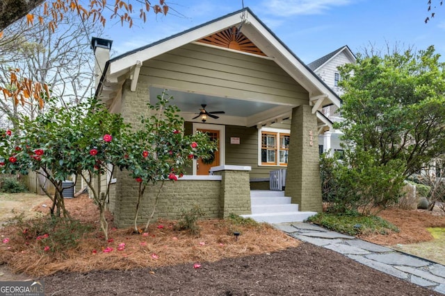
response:
<path fill-rule="evenodd" d="M 289 141 L 287 130 L 261 130 L 261 165 L 287 166 L 289 158 Z"/>

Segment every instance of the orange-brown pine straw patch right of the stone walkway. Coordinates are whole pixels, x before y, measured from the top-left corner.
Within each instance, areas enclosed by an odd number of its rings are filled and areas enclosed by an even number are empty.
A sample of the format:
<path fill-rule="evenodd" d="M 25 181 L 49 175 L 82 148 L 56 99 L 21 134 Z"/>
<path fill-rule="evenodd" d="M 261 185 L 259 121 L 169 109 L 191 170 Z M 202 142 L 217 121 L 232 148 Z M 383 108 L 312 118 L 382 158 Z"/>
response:
<path fill-rule="evenodd" d="M 377 243 L 378 245 L 397 245 L 421 243 L 433 239 L 427 228 L 445 227 L 445 215 L 443 211 L 436 210 L 404 210 L 404 209 L 385 209 L 378 216 L 396 225 L 400 232 L 391 234 L 369 234 L 359 236 L 360 238 Z"/>

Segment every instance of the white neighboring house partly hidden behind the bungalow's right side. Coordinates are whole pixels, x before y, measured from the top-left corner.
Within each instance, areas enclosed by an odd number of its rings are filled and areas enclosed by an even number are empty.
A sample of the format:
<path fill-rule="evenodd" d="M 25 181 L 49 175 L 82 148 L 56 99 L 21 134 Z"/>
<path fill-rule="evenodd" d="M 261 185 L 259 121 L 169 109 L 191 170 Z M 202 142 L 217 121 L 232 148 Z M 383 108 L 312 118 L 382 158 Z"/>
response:
<path fill-rule="evenodd" d="M 341 96 L 343 90 L 339 87 L 339 81 L 341 80 L 340 73 L 338 70 L 339 66 L 343 64 L 355 63 L 355 55 L 350 51 L 347 45 L 340 47 L 339 49 L 328 53 L 327 55 L 311 62 L 307 66 L 314 71 L 337 95 Z M 339 106 L 330 105 L 323 107 L 321 112 L 330 121 L 338 122 L 341 121 L 341 114 L 339 114 Z M 334 152 L 341 153 L 343 148 L 341 148 L 341 141 L 339 137 L 341 136 L 340 130 L 331 129 L 324 132 L 318 136 L 318 146 L 320 153 L 329 152 L 331 155 Z"/>

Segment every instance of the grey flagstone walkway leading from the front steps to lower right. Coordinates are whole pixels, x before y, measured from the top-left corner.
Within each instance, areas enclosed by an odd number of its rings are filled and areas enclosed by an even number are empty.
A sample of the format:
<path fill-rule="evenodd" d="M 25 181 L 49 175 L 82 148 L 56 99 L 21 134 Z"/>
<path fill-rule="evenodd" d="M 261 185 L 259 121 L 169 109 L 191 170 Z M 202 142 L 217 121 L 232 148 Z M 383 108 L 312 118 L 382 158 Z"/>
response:
<path fill-rule="evenodd" d="M 382 247 L 355 236 L 346 236 L 304 222 L 275 224 L 275 228 L 300 241 L 339 252 L 359 263 L 412 284 L 445 295 L 445 266 L 439 263 Z"/>

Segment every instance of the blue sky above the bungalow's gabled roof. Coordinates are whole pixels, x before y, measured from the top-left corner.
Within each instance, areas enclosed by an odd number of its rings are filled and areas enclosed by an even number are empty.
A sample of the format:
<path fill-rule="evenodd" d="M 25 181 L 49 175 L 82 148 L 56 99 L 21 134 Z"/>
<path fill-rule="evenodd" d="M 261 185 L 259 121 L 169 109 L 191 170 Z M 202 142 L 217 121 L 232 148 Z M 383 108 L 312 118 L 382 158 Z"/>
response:
<path fill-rule="evenodd" d="M 157 1 L 152 1 L 155 3 Z M 113 40 L 112 56 L 180 33 L 236 10 L 250 10 L 303 62 L 341 46 L 353 53 L 373 48 L 416 50 L 434 45 L 445 62 L 445 6 L 434 8 L 425 24 L 427 0 L 172 0 L 167 16 L 147 15 L 132 28 L 109 20 L 104 31 Z M 99 36 L 98 36 L 99 37 Z"/>

